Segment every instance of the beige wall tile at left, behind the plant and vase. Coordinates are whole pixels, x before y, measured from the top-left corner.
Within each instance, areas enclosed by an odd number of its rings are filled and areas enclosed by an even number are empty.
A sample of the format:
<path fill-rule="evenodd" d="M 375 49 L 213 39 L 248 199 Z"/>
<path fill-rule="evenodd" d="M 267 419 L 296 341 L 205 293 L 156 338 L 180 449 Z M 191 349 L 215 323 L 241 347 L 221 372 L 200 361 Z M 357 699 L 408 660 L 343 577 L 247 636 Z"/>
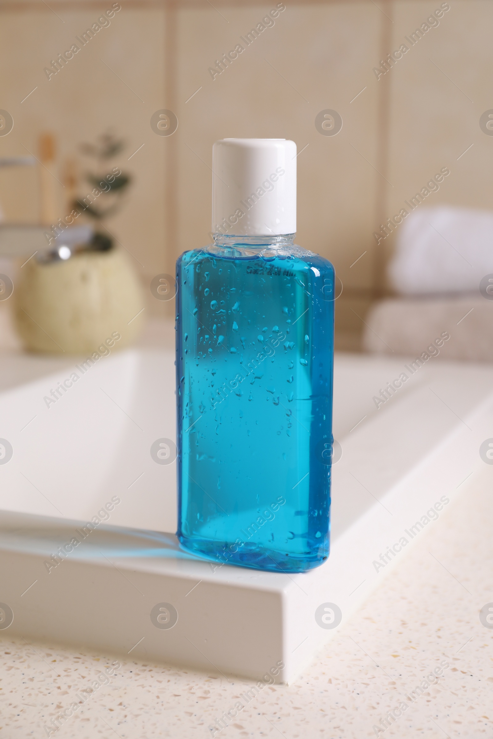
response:
<path fill-rule="evenodd" d="M 0 157 L 24 155 L 28 150 L 38 156 L 38 135 L 51 131 L 58 148 L 51 170 L 62 180 L 64 161 L 78 153 L 81 142 L 108 129 L 123 136 L 127 147 L 115 166 L 131 174 L 134 183 L 125 207 L 106 225 L 135 255 L 132 262 L 147 279 L 163 269 L 166 251 L 166 140 L 149 125 L 152 113 L 164 107 L 165 13 L 123 7 L 66 67 L 50 80 L 44 73 L 52 58 L 69 49 L 75 36 L 111 6 L 109 0 L 86 10 L 60 3 L 52 6 L 53 12 L 44 6 L 42 10 L 0 10 L 0 107 L 14 119 L 12 132 L 0 137 Z M 84 171 L 93 163 L 81 157 L 80 165 Z M 38 218 L 37 174 L 27 168 L 0 168 L 0 203 L 7 220 L 35 222 Z M 53 181 L 63 216 L 69 212 L 66 191 Z M 84 194 L 90 191 L 89 185 L 84 188 Z"/>

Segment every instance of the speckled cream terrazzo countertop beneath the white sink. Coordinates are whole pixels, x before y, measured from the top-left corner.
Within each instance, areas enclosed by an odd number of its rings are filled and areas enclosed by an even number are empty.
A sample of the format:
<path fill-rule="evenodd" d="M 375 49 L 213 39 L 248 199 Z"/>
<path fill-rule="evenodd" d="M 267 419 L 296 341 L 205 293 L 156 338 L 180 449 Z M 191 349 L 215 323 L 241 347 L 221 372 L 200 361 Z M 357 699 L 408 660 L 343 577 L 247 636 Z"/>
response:
<path fill-rule="evenodd" d="M 479 612 L 493 602 L 492 520 L 493 466 L 485 465 L 316 661 L 248 703 L 248 680 L 129 658 L 113 671 L 114 655 L 5 632 L 0 738 L 491 738 L 493 629 Z M 423 684 L 441 662 L 449 664 L 441 677 Z M 113 674 L 103 678 L 106 667 Z M 101 687 L 49 734 L 44 727 L 98 675 Z M 423 692 L 411 695 L 418 685 Z M 245 707 L 220 731 L 217 720 L 237 702 Z"/>

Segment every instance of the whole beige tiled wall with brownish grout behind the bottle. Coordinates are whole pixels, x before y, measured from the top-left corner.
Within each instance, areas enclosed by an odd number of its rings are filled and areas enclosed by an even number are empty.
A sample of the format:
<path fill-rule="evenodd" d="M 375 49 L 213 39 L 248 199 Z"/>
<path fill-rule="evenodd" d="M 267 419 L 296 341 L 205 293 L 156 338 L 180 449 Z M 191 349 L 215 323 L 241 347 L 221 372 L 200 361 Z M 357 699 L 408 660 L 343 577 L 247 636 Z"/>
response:
<path fill-rule="evenodd" d="M 39 132 L 52 130 L 59 145 L 53 174 L 61 179 L 64 158 L 82 140 L 108 128 L 123 134 L 128 149 L 118 165 L 135 182 L 107 225 L 134 254 L 145 282 L 171 272 L 184 249 L 208 241 L 211 147 L 221 137 L 287 137 L 299 151 L 306 147 L 298 159 L 297 240 L 336 265 L 344 285 L 339 344 L 354 345 L 385 284 L 383 260 L 394 237 L 377 246 L 373 232 L 437 168 L 449 166 L 451 175 L 429 202 L 490 207 L 493 137 L 478 121 L 493 108 L 491 0 L 451 0 L 440 25 L 380 80 L 373 67 L 382 55 L 441 0 L 287 2 L 275 25 L 214 80 L 208 67 L 276 2 L 122 0 L 110 27 L 48 81 L 44 66 L 111 4 L 0 4 L 0 107 L 15 120 L 13 132 L 0 137 L 0 156 L 35 152 Z M 171 137 L 149 125 L 161 108 L 179 119 Z M 316 131 L 322 109 L 336 109 L 344 121 L 334 137 Z M 64 190 L 56 187 L 62 214 Z M 0 170 L 0 202 L 8 219 L 34 222 L 35 171 Z M 149 308 L 171 311 L 155 301 Z"/>

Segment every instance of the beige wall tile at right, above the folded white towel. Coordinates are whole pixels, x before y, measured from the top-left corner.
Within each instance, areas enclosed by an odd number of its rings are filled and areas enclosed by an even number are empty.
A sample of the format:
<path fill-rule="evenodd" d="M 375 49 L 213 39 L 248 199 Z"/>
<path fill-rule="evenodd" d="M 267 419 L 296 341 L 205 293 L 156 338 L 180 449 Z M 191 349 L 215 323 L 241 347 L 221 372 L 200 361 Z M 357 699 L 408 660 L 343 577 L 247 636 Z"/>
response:
<path fill-rule="evenodd" d="M 404 37 L 409 38 L 441 4 L 441 0 L 395 3 L 388 51 L 407 43 Z M 444 166 L 450 169 L 449 176 L 420 208 L 443 203 L 493 206 L 493 136 L 479 126 L 480 115 L 493 109 L 493 4 L 451 0 L 449 7 L 438 27 L 430 28 L 413 47 L 407 43 L 409 52 L 385 75 L 392 91 L 388 178 L 393 188 L 386 185 L 387 216 L 406 207 L 404 200 Z M 387 240 L 390 253 L 395 236 Z"/>

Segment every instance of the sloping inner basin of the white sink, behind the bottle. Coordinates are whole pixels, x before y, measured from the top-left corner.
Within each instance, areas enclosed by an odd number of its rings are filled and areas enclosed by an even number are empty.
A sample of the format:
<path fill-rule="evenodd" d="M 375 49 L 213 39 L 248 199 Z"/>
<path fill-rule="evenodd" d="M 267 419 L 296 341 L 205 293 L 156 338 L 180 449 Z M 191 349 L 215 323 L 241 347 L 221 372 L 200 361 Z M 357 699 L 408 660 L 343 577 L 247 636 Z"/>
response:
<path fill-rule="evenodd" d="M 19 368 L 25 375 L 39 359 L 10 355 L 3 358 L 3 368 L 1 362 L 4 381 L 10 375 L 11 383 Z M 53 360 L 48 367 L 42 362 L 38 373 L 53 369 Z M 174 533 L 176 466 L 158 465 L 150 454 L 154 440 L 176 438 L 173 347 L 115 353 L 85 374 L 81 362 L 61 359 L 58 364 L 58 372 L 0 392 L 0 437 L 13 446 L 10 462 L 0 465 L 0 509 L 90 519 L 118 494 L 122 503 L 110 524 Z M 373 393 L 387 379 L 385 373 L 400 366 L 368 358 L 361 377 L 360 361 L 351 355 L 338 358 L 336 439 L 364 416 L 358 429 L 377 414 Z M 51 402 L 51 390 L 72 372 L 78 381 Z"/>

